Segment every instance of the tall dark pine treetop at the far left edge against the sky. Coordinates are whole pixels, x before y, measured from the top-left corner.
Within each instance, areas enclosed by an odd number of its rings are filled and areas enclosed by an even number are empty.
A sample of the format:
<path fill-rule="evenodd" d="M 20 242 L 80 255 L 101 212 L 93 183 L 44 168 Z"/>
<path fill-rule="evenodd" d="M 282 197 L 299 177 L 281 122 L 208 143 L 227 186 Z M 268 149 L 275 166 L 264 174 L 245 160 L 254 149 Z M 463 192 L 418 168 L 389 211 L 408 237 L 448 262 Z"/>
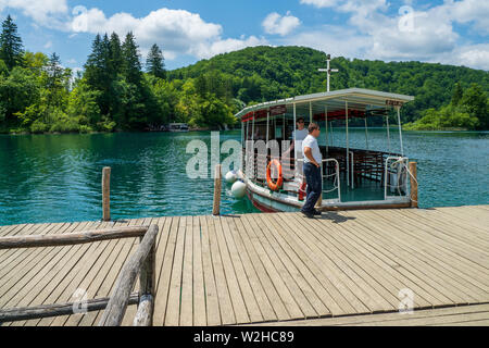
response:
<path fill-rule="evenodd" d="M 24 47 L 22 39 L 17 35 L 17 26 L 10 14 L 2 23 L 2 34 L 0 35 L 0 59 L 2 59 L 9 70 L 16 65 L 22 65 Z"/>

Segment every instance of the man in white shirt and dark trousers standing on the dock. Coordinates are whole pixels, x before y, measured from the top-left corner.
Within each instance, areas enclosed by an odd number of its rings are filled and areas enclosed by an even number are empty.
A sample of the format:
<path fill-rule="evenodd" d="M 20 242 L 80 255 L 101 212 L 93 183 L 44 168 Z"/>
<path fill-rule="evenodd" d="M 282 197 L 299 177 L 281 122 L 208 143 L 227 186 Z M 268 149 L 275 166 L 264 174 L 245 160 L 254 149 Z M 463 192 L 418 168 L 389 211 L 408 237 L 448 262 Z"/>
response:
<path fill-rule="evenodd" d="M 321 166 L 323 165 L 323 154 L 321 153 L 317 138 L 321 135 L 319 126 L 315 123 L 309 125 L 309 135 L 302 141 L 302 152 L 304 153 L 304 175 L 308 182 L 308 200 L 302 208 L 302 213 L 313 219 L 321 215 L 314 207 L 323 195 L 323 178 Z"/>

